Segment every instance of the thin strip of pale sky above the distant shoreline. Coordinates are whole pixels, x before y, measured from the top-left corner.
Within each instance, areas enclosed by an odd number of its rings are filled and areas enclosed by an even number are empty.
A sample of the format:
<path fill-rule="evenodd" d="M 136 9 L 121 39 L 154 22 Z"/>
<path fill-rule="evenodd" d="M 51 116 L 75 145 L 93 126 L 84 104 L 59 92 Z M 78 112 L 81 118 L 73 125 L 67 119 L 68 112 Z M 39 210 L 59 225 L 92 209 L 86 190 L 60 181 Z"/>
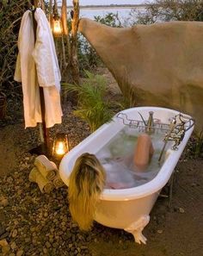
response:
<path fill-rule="evenodd" d="M 145 0 L 79 0 L 79 3 L 81 5 L 109 5 L 109 4 L 139 4 L 139 3 L 145 3 Z M 68 5 L 72 5 L 71 0 L 67 0 Z"/>

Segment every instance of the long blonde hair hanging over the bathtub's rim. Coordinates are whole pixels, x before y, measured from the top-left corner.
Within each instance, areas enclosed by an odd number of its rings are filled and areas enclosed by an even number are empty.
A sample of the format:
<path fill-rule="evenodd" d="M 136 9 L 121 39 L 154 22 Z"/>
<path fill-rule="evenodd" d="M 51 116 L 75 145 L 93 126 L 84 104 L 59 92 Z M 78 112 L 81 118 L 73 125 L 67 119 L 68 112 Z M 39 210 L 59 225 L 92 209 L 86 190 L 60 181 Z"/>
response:
<path fill-rule="evenodd" d="M 83 153 L 76 161 L 69 181 L 69 209 L 82 230 L 93 224 L 96 203 L 102 193 L 106 173 L 94 154 Z"/>

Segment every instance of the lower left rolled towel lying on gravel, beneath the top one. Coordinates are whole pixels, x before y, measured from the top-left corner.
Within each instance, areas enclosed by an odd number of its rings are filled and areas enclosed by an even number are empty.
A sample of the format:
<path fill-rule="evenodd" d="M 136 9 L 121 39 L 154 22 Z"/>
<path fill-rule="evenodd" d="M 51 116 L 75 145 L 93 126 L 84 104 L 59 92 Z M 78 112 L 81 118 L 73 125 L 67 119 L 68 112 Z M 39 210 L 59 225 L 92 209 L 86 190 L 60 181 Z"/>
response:
<path fill-rule="evenodd" d="M 42 193 L 49 194 L 54 188 L 52 182 L 44 178 L 36 167 L 29 173 L 29 181 L 38 184 Z"/>

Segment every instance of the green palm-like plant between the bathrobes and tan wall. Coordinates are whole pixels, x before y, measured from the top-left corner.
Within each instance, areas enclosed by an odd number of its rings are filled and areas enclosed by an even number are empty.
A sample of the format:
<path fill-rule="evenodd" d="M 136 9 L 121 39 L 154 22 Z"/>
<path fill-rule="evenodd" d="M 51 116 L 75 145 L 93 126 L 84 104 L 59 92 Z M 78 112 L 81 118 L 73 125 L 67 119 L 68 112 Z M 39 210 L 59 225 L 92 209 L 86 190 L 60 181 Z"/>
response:
<path fill-rule="evenodd" d="M 94 75 L 85 71 L 87 78 L 81 85 L 62 84 L 67 92 L 77 93 L 77 109 L 74 115 L 82 118 L 89 124 L 91 132 L 94 132 L 103 123 L 109 122 L 114 116 L 111 104 L 107 99 L 107 81 L 101 75 Z"/>

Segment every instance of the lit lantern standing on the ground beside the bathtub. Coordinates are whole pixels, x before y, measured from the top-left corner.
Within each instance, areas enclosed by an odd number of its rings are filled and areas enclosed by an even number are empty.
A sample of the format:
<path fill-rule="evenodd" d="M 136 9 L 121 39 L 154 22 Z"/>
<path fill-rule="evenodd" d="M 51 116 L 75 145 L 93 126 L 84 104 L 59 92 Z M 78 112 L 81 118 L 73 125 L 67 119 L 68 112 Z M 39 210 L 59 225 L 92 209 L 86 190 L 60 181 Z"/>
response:
<path fill-rule="evenodd" d="M 56 134 L 53 140 L 52 155 L 61 159 L 67 152 L 69 152 L 68 134 Z"/>

